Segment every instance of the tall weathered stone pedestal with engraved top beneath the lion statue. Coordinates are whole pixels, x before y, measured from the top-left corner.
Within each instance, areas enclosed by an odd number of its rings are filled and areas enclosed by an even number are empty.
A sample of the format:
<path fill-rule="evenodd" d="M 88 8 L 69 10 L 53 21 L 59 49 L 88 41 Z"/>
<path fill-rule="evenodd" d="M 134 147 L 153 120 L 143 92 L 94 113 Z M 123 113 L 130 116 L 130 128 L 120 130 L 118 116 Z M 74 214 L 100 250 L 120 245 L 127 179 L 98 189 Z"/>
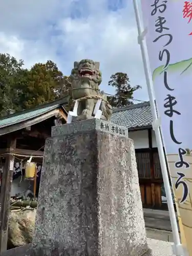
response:
<path fill-rule="evenodd" d="M 147 250 L 134 143 L 97 119 L 46 140 L 33 246 L 38 255 L 140 256 Z"/>

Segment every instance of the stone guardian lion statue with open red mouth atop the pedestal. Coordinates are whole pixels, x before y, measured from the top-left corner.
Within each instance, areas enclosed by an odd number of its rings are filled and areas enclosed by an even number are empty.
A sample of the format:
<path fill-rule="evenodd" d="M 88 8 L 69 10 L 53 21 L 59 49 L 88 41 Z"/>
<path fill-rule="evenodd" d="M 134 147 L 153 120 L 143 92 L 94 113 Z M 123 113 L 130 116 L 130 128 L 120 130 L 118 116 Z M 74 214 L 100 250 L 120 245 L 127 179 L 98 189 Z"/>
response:
<path fill-rule="evenodd" d="M 73 100 L 78 100 L 77 117 L 73 120 L 84 120 L 93 118 L 93 112 L 98 99 L 102 99 L 100 110 L 101 119 L 109 120 L 112 115 L 112 106 L 107 101 L 106 95 L 99 90 L 102 81 L 99 70 L 99 62 L 91 59 L 82 59 L 74 62 L 71 71 L 71 92 Z"/>

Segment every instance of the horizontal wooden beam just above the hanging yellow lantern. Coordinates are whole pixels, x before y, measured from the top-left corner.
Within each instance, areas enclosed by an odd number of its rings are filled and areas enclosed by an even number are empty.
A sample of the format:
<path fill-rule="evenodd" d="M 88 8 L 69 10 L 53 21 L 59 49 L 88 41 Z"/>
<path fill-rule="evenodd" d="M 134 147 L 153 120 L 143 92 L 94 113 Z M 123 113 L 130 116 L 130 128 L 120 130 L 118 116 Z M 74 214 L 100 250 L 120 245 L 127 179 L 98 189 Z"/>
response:
<path fill-rule="evenodd" d="M 22 148 L 2 148 L 0 149 L 0 155 L 6 156 L 7 154 L 17 154 L 17 155 L 25 155 L 25 156 L 44 156 L 43 151 L 35 151 L 35 150 L 23 150 Z"/>

